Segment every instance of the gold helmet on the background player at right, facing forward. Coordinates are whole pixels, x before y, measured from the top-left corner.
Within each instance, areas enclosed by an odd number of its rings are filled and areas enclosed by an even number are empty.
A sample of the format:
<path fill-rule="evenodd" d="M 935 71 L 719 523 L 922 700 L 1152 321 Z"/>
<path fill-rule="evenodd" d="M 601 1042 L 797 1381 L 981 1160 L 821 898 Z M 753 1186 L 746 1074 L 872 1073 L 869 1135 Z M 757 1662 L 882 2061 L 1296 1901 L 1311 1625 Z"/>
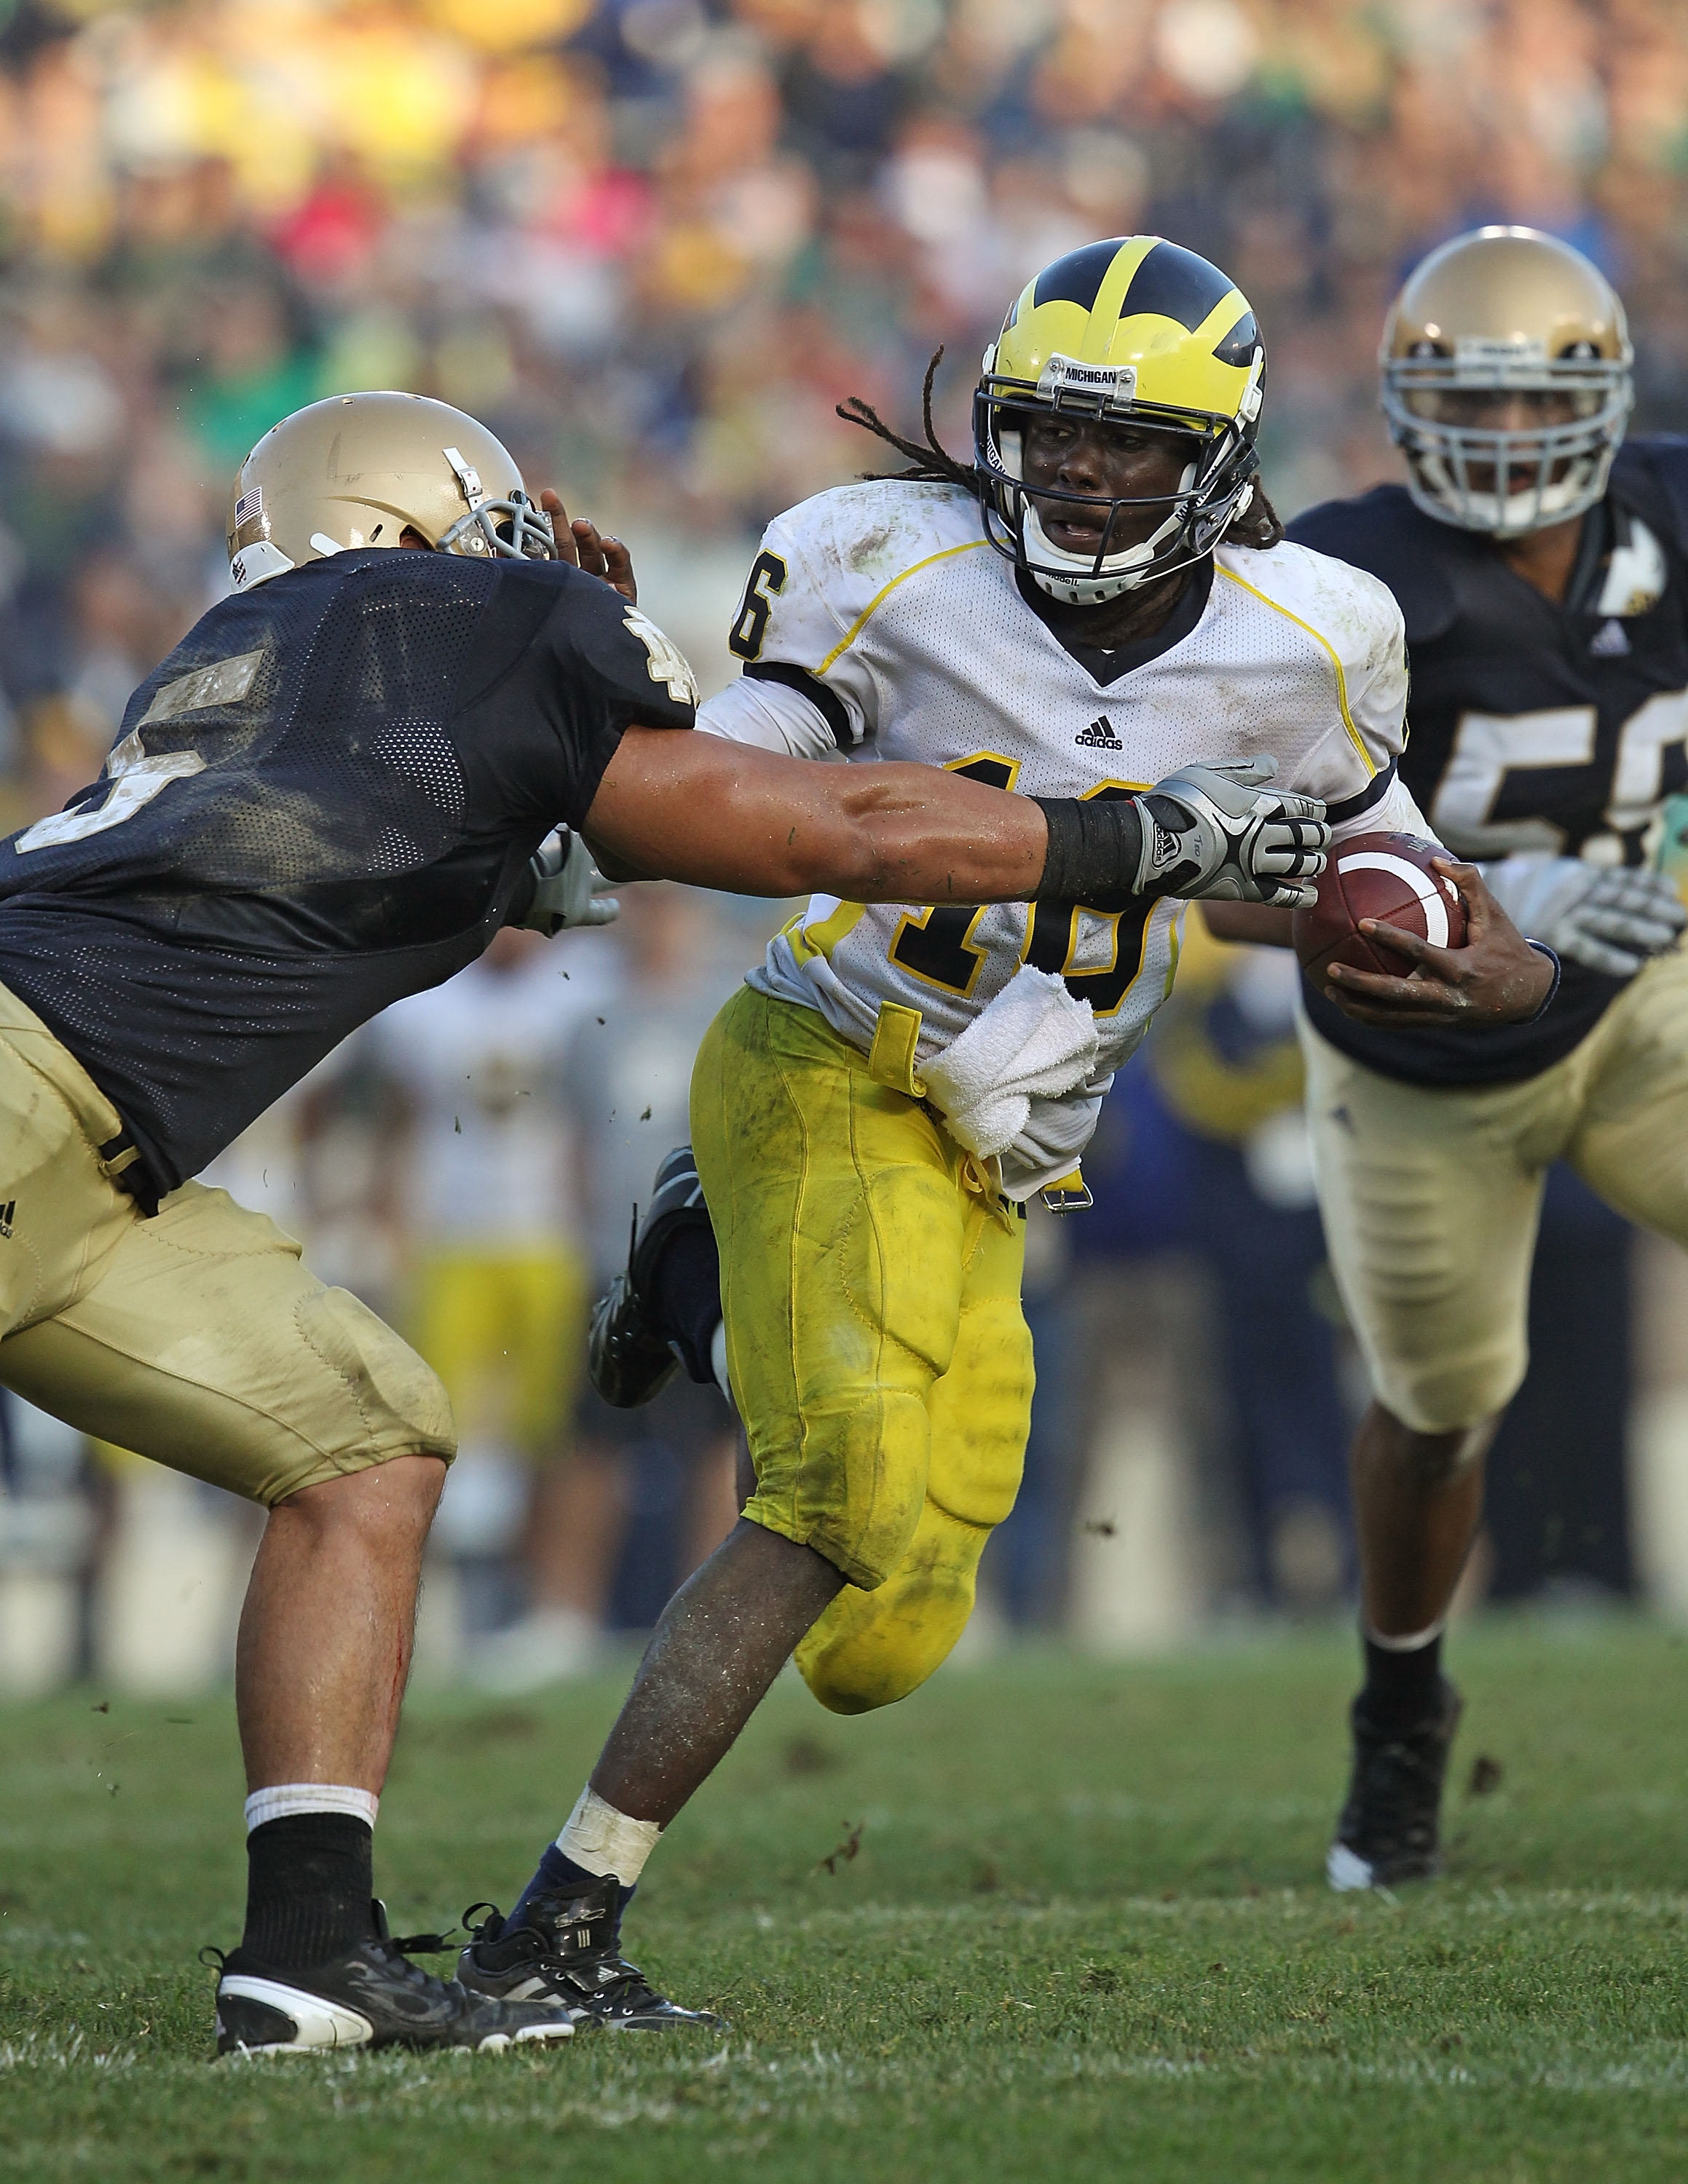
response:
<path fill-rule="evenodd" d="M 1426 515 L 1520 537 L 1605 491 L 1633 349 L 1612 284 L 1568 242 L 1535 227 L 1443 242 L 1395 297 L 1378 363 Z"/>

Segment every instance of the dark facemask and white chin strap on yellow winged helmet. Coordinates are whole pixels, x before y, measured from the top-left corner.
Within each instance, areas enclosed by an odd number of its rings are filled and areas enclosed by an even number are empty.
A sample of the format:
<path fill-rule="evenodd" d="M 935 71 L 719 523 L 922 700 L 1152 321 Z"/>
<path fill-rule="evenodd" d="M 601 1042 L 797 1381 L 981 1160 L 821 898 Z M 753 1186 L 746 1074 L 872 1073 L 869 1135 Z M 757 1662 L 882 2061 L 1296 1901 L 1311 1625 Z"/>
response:
<path fill-rule="evenodd" d="M 1020 443 L 1024 424 L 1048 417 L 1050 411 L 1177 432 L 1197 441 L 1194 456 L 1173 494 L 1116 500 L 1103 494 L 1033 491 L 1020 474 Z M 1042 590 L 1074 605 L 1101 605 L 1153 577 L 1205 559 L 1247 507 L 1260 467 L 1253 435 L 1234 417 L 1177 411 L 1160 402 L 1114 404 L 1072 391 L 1050 402 L 1033 397 L 1024 380 L 1000 373 L 987 373 L 974 395 L 974 461 L 989 544 L 1024 568 Z M 1037 505 L 1053 500 L 1107 511 L 1092 557 L 1063 553 L 1044 537 Z M 1166 509 L 1166 520 L 1146 539 L 1116 553 L 1114 531 L 1125 509 Z"/>

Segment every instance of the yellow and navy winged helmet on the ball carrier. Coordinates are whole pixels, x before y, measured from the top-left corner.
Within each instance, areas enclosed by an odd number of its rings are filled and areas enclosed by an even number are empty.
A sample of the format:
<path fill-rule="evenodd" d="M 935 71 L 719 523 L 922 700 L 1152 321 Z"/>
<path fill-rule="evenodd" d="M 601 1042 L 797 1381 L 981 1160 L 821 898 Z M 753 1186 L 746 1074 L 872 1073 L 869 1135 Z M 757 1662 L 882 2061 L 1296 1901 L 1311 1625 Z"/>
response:
<path fill-rule="evenodd" d="M 985 535 L 1055 598 L 1094 605 L 1212 553 L 1253 496 L 1267 352 L 1249 301 L 1194 251 L 1160 236 L 1116 236 L 1068 251 L 1026 284 L 985 352 L 974 395 L 974 461 Z M 1112 500 L 1035 494 L 1022 480 L 1024 432 L 1061 411 L 1179 435 L 1175 494 Z M 1094 555 L 1044 535 L 1037 500 L 1107 509 Z M 1164 509 L 1116 548 L 1122 509 Z"/>

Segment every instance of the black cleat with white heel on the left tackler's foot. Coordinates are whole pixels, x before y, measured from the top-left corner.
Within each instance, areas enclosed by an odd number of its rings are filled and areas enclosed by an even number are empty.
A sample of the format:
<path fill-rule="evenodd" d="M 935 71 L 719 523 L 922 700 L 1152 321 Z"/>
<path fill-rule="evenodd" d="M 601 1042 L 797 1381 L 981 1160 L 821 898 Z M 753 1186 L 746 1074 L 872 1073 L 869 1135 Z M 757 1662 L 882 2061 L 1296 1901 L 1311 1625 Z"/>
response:
<path fill-rule="evenodd" d="M 406 1948 L 439 1950 L 437 1933 L 395 1942 L 378 1902 L 376 1933 L 308 1972 L 277 1970 L 245 1948 L 223 1957 L 216 1981 L 218 2055 L 306 2055 L 323 2049 L 507 2049 L 568 2040 L 574 2016 L 546 2003 L 469 1994 L 411 1963 Z"/>

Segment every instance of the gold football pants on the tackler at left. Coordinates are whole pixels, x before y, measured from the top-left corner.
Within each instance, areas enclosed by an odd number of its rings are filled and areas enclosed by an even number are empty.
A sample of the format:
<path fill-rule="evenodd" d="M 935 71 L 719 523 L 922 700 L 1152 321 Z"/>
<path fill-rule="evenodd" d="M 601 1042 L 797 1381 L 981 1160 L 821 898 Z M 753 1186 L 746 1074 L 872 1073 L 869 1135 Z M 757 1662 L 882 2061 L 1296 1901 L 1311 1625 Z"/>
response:
<path fill-rule="evenodd" d="M 389 1457 L 450 1461 L 421 1358 L 227 1190 L 183 1184 L 142 1221 L 98 1151 L 120 1131 L 0 987 L 0 1382 L 264 1505 Z"/>

